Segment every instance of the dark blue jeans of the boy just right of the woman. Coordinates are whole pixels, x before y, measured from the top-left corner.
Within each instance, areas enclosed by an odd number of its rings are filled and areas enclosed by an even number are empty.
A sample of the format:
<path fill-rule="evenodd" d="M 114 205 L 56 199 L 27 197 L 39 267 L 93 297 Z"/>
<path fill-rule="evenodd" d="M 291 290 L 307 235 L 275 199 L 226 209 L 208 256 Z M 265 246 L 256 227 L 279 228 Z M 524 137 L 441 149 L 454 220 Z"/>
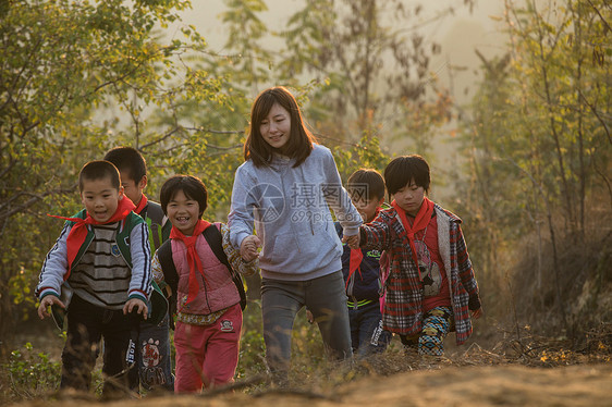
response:
<path fill-rule="evenodd" d="M 364 306 L 348 307 L 353 351 L 358 357 L 380 354 L 391 342 L 391 332 L 382 330 L 382 314 L 379 301 Z"/>

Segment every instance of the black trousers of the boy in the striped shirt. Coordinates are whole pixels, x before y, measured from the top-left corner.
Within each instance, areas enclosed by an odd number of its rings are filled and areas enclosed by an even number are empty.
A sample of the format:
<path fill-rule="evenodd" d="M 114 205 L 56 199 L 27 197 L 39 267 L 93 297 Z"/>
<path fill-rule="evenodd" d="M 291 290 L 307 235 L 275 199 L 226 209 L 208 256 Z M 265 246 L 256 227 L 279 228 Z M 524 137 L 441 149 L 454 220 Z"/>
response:
<path fill-rule="evenodd" d="M 62 379 L 60 387 L 88 391 L 91 371 L 105 340 L 102 394 L 127 390 L 126 351 L 130 344 L 134 317 L 122 310 L 109 310 L 95 306 L 77 295 L 68 308 L 68 337 L 62 351 Z"/>

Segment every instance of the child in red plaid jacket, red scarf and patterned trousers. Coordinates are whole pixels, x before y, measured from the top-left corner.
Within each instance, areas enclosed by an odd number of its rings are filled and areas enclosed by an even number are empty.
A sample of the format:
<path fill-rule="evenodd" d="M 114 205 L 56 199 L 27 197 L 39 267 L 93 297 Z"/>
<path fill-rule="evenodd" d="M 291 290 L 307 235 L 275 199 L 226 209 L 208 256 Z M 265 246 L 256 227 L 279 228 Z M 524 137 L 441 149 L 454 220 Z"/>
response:
<path fill-rule="evenodd" d="M 457 345 L 472 334 L 469 311 L 480 318 L 478 283 L 461 231 L 461 219 L 430 201 L 429 164 L 403 156 L 384 169 L 394 200 L 360 227 L 360 246 L 387 250 L 391 268 L 382 322 L 419 355 L 443 355 L 452 330 Z"/>

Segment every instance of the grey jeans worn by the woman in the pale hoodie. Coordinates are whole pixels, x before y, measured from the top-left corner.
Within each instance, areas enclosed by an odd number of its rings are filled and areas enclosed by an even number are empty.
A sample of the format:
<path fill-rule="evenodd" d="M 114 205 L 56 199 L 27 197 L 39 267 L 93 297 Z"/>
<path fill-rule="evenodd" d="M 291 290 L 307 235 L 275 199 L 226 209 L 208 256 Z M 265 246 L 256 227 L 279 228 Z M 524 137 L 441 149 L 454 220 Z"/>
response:
<path fill-rule="evenodd" d="M 308 281 L 261 280 L 266 361 L 277 384 L 287 384 L 291 333 L 303 306 L 313 312 L 330 358 L 352 358 L 346 300 L 342 271 Z"/>

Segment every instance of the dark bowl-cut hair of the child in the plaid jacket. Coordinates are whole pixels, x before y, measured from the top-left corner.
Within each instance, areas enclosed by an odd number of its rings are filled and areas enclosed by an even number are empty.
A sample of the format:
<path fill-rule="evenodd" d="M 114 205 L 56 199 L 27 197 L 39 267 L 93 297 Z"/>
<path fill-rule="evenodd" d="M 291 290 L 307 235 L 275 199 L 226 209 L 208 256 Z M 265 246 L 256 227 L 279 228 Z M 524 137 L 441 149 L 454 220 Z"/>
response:
<path fill-rule="evenodd" d="M 384 169 L 384 183 L 389 195 L 395 194 L 413 180 L 426 193 L 429 192 L 429 164 L 418 155 L 397 157 Z"/>

